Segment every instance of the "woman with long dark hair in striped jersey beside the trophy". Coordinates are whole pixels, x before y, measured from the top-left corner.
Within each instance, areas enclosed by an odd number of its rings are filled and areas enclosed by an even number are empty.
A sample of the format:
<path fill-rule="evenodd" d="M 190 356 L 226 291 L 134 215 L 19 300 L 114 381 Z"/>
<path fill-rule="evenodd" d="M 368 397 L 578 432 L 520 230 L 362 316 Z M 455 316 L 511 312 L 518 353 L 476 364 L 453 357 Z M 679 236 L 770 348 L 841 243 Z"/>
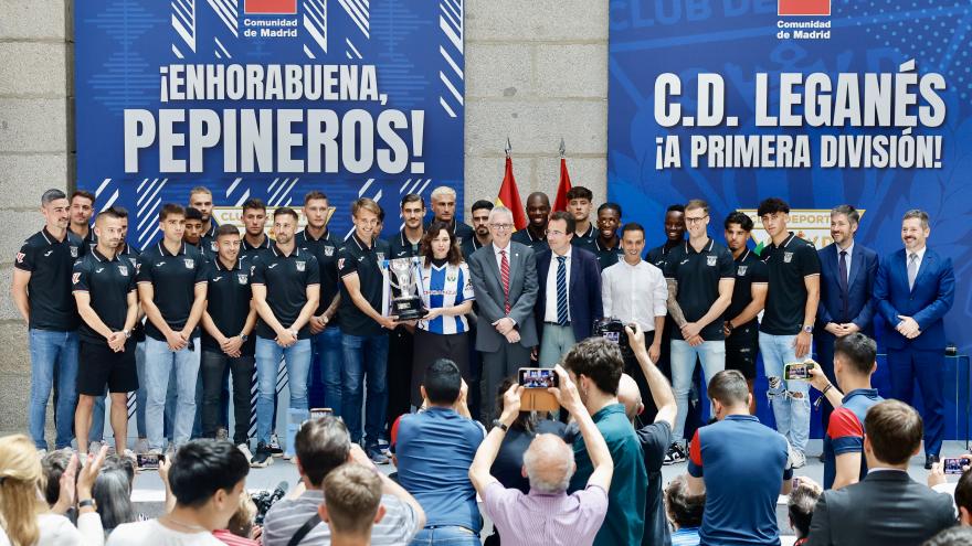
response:
<path fill-rule="evenodd" d="M 422 405 L 419 384 L 425 366 L 439 358 L 455 362 L 466 383 L 469 374 L 469 323 L 473 282 L 455 234 L 444 222 L 433 222 L 422 237 L 422 300 L 429 313 L 415 328 L 412 353 L 412 405 Z M 391 355 L 392 357 L 394 355 Z"/>

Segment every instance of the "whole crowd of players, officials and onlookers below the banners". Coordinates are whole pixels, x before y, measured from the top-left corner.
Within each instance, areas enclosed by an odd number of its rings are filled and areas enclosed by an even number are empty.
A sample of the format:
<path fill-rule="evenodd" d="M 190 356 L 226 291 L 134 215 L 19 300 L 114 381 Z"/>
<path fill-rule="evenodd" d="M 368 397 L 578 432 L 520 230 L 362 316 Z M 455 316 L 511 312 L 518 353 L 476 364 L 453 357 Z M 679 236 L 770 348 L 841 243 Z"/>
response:
<path fill-rule="evenodd" d="M 321 192 L 302 214 L 267 216 L 246 201 L 241 234 L 215 224 L 212 193 L 197 188 L 188 207 L 161 206 L 160 240 L 138 251 L 125 210 L 103 207 L 92 225 L 93 195 L 45 192 L 45 226 L 14 264 L 32 379 L 30 438 L 0 439 L 7 539 L 480 544 L 485 515 L 492 544 L 779 544 L 780 494 L 806 544 L 921 544 L 955 524 L 955 506 L 970 520 L 968 472 L 954 503 L 907 474 L 923 443 L 930 484 L 943 481 L 942 319 L 954 276 L 927 246 L 926 213 L 905 214 L 905 248 L 879 260 L 855 243 L 849 205 L 833 208 L 834 242 L 816 250 L 788 229 L 784 201 L 764 200 L 770 240 L 757 253 L 752 218 L 726 217 L 723 245 L 709 235 L 709 205 L 691 200 L 668 207 L 665 244 L 645 251 L 645 228 L 622 223 L 621 205 L 592 218 L 589 190 L 567 196 L 554 212 L 530 194 L 528 225 L 515 231 L 513 212 L 488 201 L 473 204 L 474 226 L 462 223 L 445 186 L 426 223 L 424 197 L 409 194 L 387 240 L 384 211 L 358 199 L 341 240 Z M 395 258 L 419 260 L 421 318 L 389 306 Z M 876 315 L 895 399 L 870 381 Z M 758 354 L 775 430 L 753 416 Z M 289 400 L 278 416 L 281 363 Z M 794 363 L 809 377 L 791 376 Z M 311 366 L 331 414 L 314 419 Z M 553 370 L 559 410 L 521 410 L 522 367 Z M 905 404 L 916 379 L 923 416 Z M 811 388 L 824 408 L 821 485 L 794 478 Z M 714 421 L 698 427 L 700 406 Z M 162 460 L 172 502 L 159 518 L 130 503 L 135 452 Z M 303 485 L 255 526 L 245 478 L 275 457 Z M 374 467 L 389 462 L 393 479 Z M 662 467 L 679 463 L 685 474 L 666 486 Z"/>

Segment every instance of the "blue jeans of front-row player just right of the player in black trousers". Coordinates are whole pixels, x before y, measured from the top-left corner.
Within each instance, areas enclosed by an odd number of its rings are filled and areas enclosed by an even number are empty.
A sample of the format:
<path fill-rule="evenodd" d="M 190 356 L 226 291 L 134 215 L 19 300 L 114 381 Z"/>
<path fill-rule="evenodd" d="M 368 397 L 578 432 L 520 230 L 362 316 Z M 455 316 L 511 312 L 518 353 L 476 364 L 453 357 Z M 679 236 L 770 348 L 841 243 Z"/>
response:
<path fill-rule="evenodd" d="M 287 366 L 287 383 L 290 389 L 290 409 L 307 411 L 307 381 L 310 377 L 310 340 L 284 349 L 273 340 L 256 338 L 256 441 L 270 443 L 273 429 L 274 395 L 277 392 L 277 371 L 281 360 Z M 289 413 L 288 413 L 289 414 Z M 293 453 L 293 441 L 287 442 L 287 452 Z"/>

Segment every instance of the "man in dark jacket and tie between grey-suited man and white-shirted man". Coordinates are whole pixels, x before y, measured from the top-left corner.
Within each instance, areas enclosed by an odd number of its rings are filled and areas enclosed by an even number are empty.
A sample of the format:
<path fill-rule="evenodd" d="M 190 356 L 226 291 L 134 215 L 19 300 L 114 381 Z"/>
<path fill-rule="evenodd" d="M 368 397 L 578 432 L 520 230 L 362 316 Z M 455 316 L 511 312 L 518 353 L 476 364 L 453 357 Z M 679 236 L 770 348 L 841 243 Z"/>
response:
<path fill-rule="evenodd" d="M 550 248 L 537 254 L 533 318 L 541 367 L 553 367 L 574 343 L 590 338 L 594 321 L 604 315 L 598 258 L 571 244 L 574 229 L 571 214 L 553 213 L 547 223 Z"/>

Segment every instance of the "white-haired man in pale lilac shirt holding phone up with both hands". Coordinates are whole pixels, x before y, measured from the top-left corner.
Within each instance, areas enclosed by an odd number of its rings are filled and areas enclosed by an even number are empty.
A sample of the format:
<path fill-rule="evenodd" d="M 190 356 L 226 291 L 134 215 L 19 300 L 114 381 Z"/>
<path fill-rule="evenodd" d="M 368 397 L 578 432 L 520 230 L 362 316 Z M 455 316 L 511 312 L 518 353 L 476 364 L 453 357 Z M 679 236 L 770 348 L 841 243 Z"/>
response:
<path fill-rule="evenodd" d="M 469 479 L 483 497 L 483 511 L 507 546 L 592 544 L 608 512 L 608 488 L 614 473 L 611 453 L 581 403 L 577 386 L 563 368 L 557 366 L 554 370 L 560 377 L 560 388 L 550 387 L 548 390 L 580 426 L 594 470 L 582 491 L 568 495 L 567 488 L 577 469 L 573 450 L 554 435 L 539 435 L 524 453 L 522 471 L 530 480 L 529 494 L 506 489 L 490 475 L 489 468 L 506 431 L 520 413 L 524 387 L 510 386 L 504 395 L 499 422 L 479 446 L 469 468 Z"/>

